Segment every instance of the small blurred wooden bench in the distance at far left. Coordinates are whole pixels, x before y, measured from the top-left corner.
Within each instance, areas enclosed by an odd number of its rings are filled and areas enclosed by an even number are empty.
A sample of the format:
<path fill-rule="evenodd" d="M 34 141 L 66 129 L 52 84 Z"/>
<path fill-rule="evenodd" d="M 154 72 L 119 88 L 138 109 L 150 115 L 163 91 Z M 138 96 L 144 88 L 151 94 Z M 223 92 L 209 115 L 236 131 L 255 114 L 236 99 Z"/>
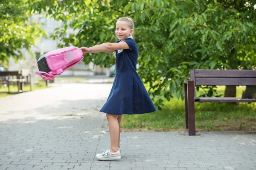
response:
<path fill-rule="evenodd" d="M 10 85 L 13 83 L 17 83 L 17 93 L 23 92 L 22 83 L 30 85 L 30 90 L 32 90 L 30 74 L 23 75 L 21 71 L 0 72 L 0 84 L 7 84 L 8 93 L 10 93 Z"/>

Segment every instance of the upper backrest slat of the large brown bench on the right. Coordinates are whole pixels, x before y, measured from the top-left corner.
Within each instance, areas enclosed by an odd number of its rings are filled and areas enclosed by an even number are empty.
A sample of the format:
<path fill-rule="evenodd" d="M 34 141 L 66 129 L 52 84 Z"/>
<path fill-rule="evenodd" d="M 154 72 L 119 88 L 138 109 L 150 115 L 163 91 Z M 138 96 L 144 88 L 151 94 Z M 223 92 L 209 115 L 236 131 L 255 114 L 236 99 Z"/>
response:
<path fill-rule="evenodd" d="M 256 77 L 256 70 L 195 70 L 195 77 Z"/>

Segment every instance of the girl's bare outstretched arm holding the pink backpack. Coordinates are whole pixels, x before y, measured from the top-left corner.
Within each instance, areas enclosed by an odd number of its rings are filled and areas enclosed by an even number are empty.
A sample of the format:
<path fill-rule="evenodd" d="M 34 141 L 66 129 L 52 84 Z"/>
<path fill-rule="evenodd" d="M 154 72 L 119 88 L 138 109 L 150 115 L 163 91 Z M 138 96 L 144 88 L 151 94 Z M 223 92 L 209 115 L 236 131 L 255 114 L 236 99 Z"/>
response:
<path fill-rule="evenodd" d="M 119 42 L 119 43 L 105 42 L 103 44 L 95 45 L 93 47 L 89 47 L 89 48 L 88 47 L 81 47 L 79 49 L 83 51 L 83 54 L 85 54 L 85 53 L 99 53 L 99 52 L 111 53 L 111 52 L 114 52 L 116 50 L 129 49 L 129 46 L 124 41 Z"/>

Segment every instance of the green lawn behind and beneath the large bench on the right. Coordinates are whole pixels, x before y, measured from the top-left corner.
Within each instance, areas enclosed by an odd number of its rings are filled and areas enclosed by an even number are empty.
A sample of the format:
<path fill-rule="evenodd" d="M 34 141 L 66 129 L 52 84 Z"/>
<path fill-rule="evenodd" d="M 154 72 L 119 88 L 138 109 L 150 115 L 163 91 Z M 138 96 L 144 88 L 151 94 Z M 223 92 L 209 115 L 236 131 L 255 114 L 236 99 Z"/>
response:
<path fill-rule="evenodd" d="M 218 93 L 224 94 L 224 86 Z M 237 87 L 241 97 L 245 87 Z M 198 95 L 202 93 L 199 91 Z M 141 115 L 123 115 L 122 130 L 125 131 L 172 131 L 185 130 L 184 101 L 173 98 L 165 101 L 163 109 Z M 256 103 L 195 103 L 196 130 L 256 130 Z"/>

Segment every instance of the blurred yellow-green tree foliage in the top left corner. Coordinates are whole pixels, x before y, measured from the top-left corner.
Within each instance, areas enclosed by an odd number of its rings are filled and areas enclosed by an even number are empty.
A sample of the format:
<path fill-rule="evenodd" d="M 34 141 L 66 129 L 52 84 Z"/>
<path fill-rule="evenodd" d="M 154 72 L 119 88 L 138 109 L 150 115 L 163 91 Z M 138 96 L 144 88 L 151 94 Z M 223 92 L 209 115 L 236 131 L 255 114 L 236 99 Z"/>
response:
<path fill-rule="evenodd" d="M 21 49 L 30 49 L 43 36 L 35 23 L 29 22 L 31 13 L 27 0 L 1 0 L 0 3 L 0 63 L 9 57 L 21 59 Z"/>

